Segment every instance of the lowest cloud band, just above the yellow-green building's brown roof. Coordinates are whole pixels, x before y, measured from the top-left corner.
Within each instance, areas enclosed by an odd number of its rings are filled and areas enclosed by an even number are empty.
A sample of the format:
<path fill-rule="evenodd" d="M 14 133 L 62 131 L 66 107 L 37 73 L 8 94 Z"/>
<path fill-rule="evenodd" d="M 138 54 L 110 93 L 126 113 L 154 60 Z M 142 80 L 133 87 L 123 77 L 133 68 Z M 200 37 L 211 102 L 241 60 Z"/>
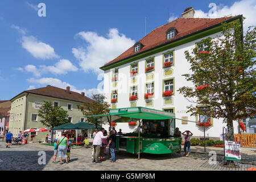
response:
<path fill-rule="evenodd" d="M 101 90 L 98 90 L 96 88 L 93 89 L 82 89 L 79 90 L 76 88 L 76 86 L 73 86 L 71 84 L 68 84 L 67 82 L 63 82 L 61 80 L 59 80 L 58 78 L 28 78 L 27 79 L 28 82 L 32 83 L 32 84 L 38 84 L 40 86 L 46 86 L 46 85 L 51 85 L 51 86 L 56 86 L 62 89 L 66 89 L 67 86 L 70 86 L 71 91 L 73 92 L 77 92 L 77 93 L 81 93 L 84 92 L 86 96 L 90 97 L 91 93 L 102 93 Z"/>

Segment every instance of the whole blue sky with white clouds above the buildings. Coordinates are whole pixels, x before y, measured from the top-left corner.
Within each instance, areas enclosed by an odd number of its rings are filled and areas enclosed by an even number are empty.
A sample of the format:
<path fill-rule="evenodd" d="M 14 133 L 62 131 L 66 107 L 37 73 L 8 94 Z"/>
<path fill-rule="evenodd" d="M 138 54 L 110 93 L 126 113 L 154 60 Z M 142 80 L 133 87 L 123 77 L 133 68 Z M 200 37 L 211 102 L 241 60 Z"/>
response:
<path fill-rule="evenodd" d="M 39 17 L 39 3 L 46 17 Z M 147 30 L 179 18 L 187 7 L 207 18 L 246 16 L 255 25 L 256 0 L 242 1 L 0 1 L 0 100 L 46 85 L 88 96 L 102 82 L 98 68 L 144 36 Z M 167 9 L 168 13 L 167 14 Z M 214 18 L 211 17 L 211 18 Z"/>

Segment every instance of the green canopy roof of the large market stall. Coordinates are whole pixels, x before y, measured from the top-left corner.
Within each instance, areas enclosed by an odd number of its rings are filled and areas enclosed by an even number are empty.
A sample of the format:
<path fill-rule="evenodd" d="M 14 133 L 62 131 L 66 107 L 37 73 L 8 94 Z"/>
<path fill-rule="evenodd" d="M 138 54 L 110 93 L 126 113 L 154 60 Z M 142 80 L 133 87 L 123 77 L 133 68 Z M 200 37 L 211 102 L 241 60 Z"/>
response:
<path fill-rule="evenodd" d="M 135 119 L 172 119 L 175 118 L 174 113 L 168 113 L 162 110 L 149 109 L 146 107 L 126 107 L 121 109 L 110 109 L 109 114 L 103 115 L 85 115 L 84 117 L 94 118 L 97 121 L 118 121 L 121 117 L 135 118 Z"/>

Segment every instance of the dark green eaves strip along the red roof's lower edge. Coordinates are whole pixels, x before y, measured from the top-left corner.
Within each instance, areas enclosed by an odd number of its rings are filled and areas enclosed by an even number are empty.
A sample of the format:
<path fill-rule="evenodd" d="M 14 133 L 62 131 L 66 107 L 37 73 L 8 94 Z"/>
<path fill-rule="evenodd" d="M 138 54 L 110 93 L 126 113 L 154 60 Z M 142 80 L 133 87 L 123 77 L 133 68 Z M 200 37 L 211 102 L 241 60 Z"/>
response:
<path fill-rule="evenodd" d="M 139 53 L 137 53 L 137 54 L 135 54 L 135 55 L 131 55 L 131 56 L 125 57 L 125 58 L 123 58 L 123 59 L 121 59 L 121 60 L 115 61 L 114 63 L 110 63 L 110 64 L 108 64 L 108 65 L 104 65 L 104 66 L 100 67 L 100 69 L 102 69 L 102 70 L 104 71 L 103 68 L 109 67 L 110 65 L 113 65 L 113 64 L 119 63 L 119 62 L 121 62 L 121 61 L 123 61 L 123 60 L 129 59 L 129 58 L 131 58 L 131 57 L 140 55 L 141 53 L 151 51 L 152 49 L 155 49 L 155 48 L 158 48 L 158 47 L 162 47 L 162 46 L 165 46 L 165 45 L 167 45 L 167 44 L 174 43 L 174 42 L 176 42 L 176 41 L 178 41 L 178 40 L 180 40 L 180 39 L 187 38 L 188 36 L 195 35 L 195 34 L 198 34 L 198 33 L 200 33 L 200 32 L 203 32 L 203 31 L 207 31 L 207 30 L 209 30 L 210 28 L 214 28 L 214 27 L 221 26 L 221 23 L 232 22 L 233 20 L 236 20 L 236 19 L 238 19 L 238 18 L 241 20 L 242 15 L 237 15 L 237 16 L 235 16 L 235 17 L 233 17 L 233 18 L 230 18 L 230 19 L 228 19 L 228 20 L 225 20 L 225 21 L 223 21 L 223 22 L 214 24 L 213 26 L 204 28 L 204 29 L 202 29 L 202 30 L 193 32 L 193 33 L 188 34 L 188 35 L 181 36 L 180 38 L 177 38 L 177 39 L 175 39 L 175 40 L 171 40 L 170 42 L 166 42 L 166 43 L 160 44 L 159 46 L 156 46 L 156 47 L 152 47 L 152 48 L 147 49 L 147 50 L 145 50 L 145 51 L 139 52 Z"/>

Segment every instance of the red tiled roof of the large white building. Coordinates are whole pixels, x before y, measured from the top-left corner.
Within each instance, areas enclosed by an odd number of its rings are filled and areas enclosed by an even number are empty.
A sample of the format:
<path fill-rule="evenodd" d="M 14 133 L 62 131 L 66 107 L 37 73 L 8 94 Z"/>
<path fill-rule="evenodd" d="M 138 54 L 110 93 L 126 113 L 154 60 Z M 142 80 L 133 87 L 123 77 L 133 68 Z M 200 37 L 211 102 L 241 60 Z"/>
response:
<path fill-rule="evenodd" d="M 110 61 L 109 63 L 106 63 L 103 67 L 115 63 L 119 60 L 125 59 L 126 57 L 133 56 L 137 53 L 146 51 L 150 48 L 154 48 L 163 43 L 167 43 L 177 38 L 181 38 L 185 35 L 192 34 L 193 32 L 203 30 L 204 28 L 213 26 L 214 24 L 224 22 L 225 20 L 231 19 L 233 17 L 234 16 L 222 18 L 177 18 L 170 23 L 155 28 L 149 34 L 144 36 L 144 38 L 139 40 L 139 42 L 143 44 L 143 47 L 141 48 L 140 51 L 134 52 L 134 47 L 132 46 L 129 49 L 127 49 L 127 51 L 123 52 L 121 55 L 116 57 L 114 60 Z M 166 31 L 172 27 L 176 28 L 177 34 L 175 35 L 174 38 L 166 40 Z"/>

